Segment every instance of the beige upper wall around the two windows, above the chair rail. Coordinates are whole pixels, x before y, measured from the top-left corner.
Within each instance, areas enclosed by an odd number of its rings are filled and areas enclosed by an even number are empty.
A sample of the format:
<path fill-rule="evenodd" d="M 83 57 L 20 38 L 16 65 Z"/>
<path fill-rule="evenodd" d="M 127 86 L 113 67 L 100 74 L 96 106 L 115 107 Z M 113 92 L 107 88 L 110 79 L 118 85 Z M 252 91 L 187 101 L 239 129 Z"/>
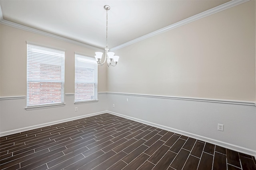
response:
<path fill-rule="evenodd" d="M 74 94 L 74 53 L 95 50 L 1 24 L 0 96 L 26 96 L 26 41 L 65 50 L 65 93 Z M 98 92 L 106 92 L 106 67 L 98 67 Z"/>

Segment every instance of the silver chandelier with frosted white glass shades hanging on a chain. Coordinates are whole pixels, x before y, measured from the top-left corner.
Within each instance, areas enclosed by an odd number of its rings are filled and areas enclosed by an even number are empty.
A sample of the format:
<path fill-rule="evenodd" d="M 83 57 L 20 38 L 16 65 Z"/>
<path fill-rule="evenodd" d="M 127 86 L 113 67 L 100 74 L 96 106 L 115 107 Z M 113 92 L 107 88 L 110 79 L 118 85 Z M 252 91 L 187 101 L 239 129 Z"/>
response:
<path fill-rule="evenodd" d="M 106 10 L 107 12 L 107 26 L 106 26 L 106 48 L 105 48 L 105 59 L 104 59 L 104 62 L 103 63 L 100 63 L 100 60 L 102 58 L 102 52 L 96 52 L 95 54 L 95 59 L 98 63 L 99 66 L 102 66 L 106 61 L 107 61 L 107 64 L 108 66 L 116 66 L 117 62 L 118 62 L 118 59 L 119 59 L 119 56 L 114 56 L 115 53 L 113 52 L 108 52 L 108 10 L 110 10 L 110 6 L 108 5 L 105 5 L 104 6 L 104 9 Z M 114 63 L 114 65 L 113 65 Z"/>

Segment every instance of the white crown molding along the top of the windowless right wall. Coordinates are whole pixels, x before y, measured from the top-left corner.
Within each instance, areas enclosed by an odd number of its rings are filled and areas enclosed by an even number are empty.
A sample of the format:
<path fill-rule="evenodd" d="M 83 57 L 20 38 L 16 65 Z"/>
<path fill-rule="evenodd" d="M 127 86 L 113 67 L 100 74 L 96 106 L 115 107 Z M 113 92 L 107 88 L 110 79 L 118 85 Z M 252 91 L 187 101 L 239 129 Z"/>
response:
<path fill-rule="evenodd" d="M 215 13 L 217 13 L 217 12 L 226 10 L 226 9 L 228 9 L 228 8 L 231 8 L 231 7 L 233 7 L 233 6 L 242 4 L 242 3 L 247 2 L 247 1 L 249 1 L 249 0 L 232 0 L 232 1 L 226 2 L 225 4 L 222 4 L 222 5 L 220 5 L 220 6 L 216 6 L 215 8 L 212 8 L 212 9 L 210 9 L 210 10 L 201 12 L 200 14 L 196 14 L 196 15 L 194 15 L 194 16 L 192 16 L 192 17 L 186 18 L 186 19 L 184 19 L 184 20 L 182 20 L 182 21 L 178 21 L 178 22 L 176 22 L 176 23 L 174 23 L 174 24 L 172 24 L 172 25 L 169 25 L 169 26 L 167 26 L 167 27 L 164 27 L 164 28 L 162 28 L 162 29 L 158 29 L 158 30 L 156 30 L 156 31 L 154 31 L 154 32 L 152 32 L 152 33 L 148 33 L 148 34 L 146 34 L 146 35 L 143 35 L 143 36 L 141 36 L 141 37 L 138 37 L 138 38 L 136 38 L 136 39 L 133 39 L 133 40 L 131 40 L 131 41 L 128 41 L 128 42 L 126 42 L 126 43 L 123 43 L 123 44 L 121 44 L 121 45 L 118 45 L 118 46 L 116 46 L 116 47 L 114 47 L 114 48 L 112 48 L 112 49 L 110 49 L 110 50 L 111 50 L 111 51 L 115 51 L 115 50 L 117 50 L 117 49 L 120 49 L 120 48 L 126 47 L 126 46 L 128 46 L 128 45 L 137 43 L 137 42 L 142 41 L 142 40 L 144 40 L 144 39 L 153 37 L 153 36 L 158 35 L 158 34 L 160 34 L 160 33 L 164 33 L 164 32 L 169 31 L 169 30 L 171 30 L 171 29 L 174 29 L 174 28 L 180 27 L 180 26 L 182 26 L 182 25 L 188 24 L 188 23 L 190 23 L 190 22 L 199 20 L 199 19 L 201 19 L 201 18 L 210 16 L 210 15 L 212 15 L 212 14 L 215 14 Z"/>

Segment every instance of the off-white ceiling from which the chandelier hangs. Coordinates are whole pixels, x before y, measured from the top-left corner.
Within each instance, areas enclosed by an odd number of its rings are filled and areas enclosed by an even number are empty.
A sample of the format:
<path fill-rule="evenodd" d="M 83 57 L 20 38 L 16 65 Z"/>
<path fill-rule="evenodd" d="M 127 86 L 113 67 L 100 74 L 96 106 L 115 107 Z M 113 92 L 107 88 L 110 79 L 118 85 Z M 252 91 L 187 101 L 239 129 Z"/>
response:
<path fill-rule="evenodd" d="M 0 0 L 3 20 L 104 49 L 172 25 L 230 0 Z"/>

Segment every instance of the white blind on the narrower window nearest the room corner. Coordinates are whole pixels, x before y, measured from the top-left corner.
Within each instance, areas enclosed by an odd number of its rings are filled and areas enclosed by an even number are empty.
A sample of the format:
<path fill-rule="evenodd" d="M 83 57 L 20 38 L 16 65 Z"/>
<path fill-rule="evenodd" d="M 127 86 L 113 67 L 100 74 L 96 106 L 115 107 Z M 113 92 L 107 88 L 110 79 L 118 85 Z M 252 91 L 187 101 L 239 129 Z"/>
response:
<path fill-rule="evenodd" d="M 98 64 L 92 57 L 75 54 L 75 102 L 97 100 Z"/>

